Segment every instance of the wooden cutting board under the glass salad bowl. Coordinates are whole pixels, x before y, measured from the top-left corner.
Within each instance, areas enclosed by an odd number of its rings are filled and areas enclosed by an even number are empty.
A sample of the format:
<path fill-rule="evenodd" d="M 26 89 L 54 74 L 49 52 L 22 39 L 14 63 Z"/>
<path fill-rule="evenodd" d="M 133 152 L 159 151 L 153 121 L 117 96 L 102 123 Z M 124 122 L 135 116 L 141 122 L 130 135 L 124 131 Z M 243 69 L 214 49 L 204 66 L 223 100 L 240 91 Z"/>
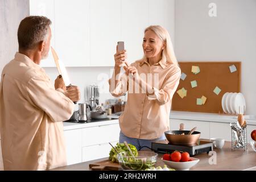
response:
<path fill-rule="evenodd" d="M 110 160 L 102 160 L 97 163 L 89 164 L 93 171 L 121 171 L 122 167 L 118 163 L 112 163 Z"/>

